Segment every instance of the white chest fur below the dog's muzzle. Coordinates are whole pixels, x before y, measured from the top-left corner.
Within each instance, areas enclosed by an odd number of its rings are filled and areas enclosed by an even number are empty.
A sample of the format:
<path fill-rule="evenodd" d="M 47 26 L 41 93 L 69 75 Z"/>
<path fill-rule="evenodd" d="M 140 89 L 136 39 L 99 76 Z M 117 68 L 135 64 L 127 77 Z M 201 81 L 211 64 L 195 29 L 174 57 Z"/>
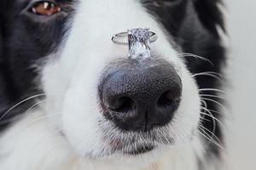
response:
<path fill-rule="evenodd" d="M 135 167 L 118 161 L 81 158 L 56 129 L 50 126 L 44 111 L 37 109 L 3 133 L 0 140 L 1 170 L 196 170 L 195 150 L 202 150 L 198 138 L 170 150 L 148 165 Z M 35 121 L 37 120 L 37 121 Z M 200 153 L 198 153 L 200 154 Z"/>

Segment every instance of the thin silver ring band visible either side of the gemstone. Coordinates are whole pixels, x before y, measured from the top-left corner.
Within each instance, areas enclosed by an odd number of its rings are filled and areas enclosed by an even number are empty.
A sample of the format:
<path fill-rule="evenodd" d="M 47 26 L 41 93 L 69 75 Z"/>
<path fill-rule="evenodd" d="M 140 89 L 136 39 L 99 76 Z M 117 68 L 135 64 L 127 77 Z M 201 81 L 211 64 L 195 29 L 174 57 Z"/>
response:
<path fill-rule="evenodd" d="M 157 35 L 153 31 L 149 31 L 150 42 L 157 40 Z M 112 37 L 112 41 L 118 45 L 128 45 L 128 32 L 120 32 Z"/>

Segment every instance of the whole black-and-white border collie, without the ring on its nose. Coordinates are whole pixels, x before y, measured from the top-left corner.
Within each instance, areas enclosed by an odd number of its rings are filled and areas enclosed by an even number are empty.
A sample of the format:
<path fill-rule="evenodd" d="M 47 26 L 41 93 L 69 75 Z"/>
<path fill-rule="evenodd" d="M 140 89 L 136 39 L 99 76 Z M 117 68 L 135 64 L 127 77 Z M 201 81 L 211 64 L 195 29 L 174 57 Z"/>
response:
<path fill-rule="evenodd" d="M 1 0 L 1 170 L 221 165 L 219 0 Z M 151 57 L 114 34 L 150 28 Z"/>

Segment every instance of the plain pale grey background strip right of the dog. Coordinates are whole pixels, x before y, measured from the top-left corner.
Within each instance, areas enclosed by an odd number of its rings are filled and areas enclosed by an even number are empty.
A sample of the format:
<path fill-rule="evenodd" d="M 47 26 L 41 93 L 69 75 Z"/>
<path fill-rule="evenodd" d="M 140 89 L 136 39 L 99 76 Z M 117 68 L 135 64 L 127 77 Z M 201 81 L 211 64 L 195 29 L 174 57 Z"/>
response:
<path fill-rule="evenodd" d="M 230 86 L 227 168 L 256 169 L 256 1 L 225 0 Z"/>

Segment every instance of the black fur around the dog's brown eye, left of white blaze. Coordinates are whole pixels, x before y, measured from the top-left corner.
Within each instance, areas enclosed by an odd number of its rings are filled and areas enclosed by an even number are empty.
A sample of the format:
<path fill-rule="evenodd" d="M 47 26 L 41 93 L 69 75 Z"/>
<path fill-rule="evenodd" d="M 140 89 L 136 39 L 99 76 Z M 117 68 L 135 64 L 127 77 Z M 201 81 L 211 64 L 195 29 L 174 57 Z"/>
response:
<path fill-rule="evenodd" d="M 40 94 L 35 79 L 38 72 L 32 65 L 54 52 L 65 32 L 64 25 L 71 8 L 53 17 L 36 16 L 29 12 L 30 0 L 2 0 L 0 4 L 0 130 L 9 120 L 32 106 L 34 99 L 6 111 L 29 96 Z M 60 1 L 65 7 L 71 1 Z"/>

